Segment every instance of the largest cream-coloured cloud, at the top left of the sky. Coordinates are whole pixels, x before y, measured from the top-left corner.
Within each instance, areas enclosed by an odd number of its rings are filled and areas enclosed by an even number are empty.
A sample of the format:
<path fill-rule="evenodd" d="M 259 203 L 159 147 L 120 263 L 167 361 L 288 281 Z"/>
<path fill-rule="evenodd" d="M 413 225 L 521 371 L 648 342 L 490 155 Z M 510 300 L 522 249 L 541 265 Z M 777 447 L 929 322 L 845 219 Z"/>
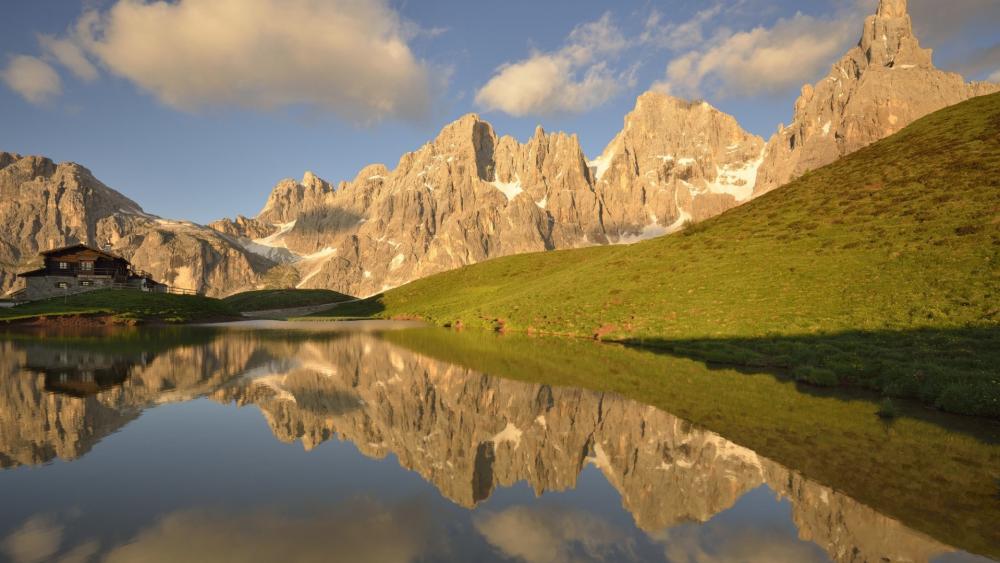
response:
<path fill-rule="evenodd" d="M 118 0 L 73 37 L 175 108 L 304 106 L 366 122 L 429 110 L 436 73 L 413 35 L 386 0 Z"/>

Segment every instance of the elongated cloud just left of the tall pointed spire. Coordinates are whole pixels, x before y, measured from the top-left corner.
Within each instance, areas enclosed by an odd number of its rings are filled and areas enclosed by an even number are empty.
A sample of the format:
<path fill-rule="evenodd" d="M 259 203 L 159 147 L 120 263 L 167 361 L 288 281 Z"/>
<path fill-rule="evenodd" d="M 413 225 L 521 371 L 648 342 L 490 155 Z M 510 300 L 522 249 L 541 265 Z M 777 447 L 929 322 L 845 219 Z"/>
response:
<path fill-rule="evenodd" d="M 857 40 L 855 20 L 796 14 L 770 28 L 721 33 L 706 47 L 673 59 L 653 88 L 695 97 L 706 90 L 727 96 L 797 87 L 815 79 Z"/>

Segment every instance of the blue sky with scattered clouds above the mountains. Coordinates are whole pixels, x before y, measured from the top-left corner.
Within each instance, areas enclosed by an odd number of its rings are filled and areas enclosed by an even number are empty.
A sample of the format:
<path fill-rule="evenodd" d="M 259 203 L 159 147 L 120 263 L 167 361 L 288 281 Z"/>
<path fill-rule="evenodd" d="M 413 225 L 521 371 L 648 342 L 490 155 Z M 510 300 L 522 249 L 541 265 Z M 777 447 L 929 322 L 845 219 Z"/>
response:
<path fill-rule="evenodd" d="M 591 158 L 655 89 L 768 137 L 877 0 L 3 0 L 0 150 L 165 217 L 255 215 L 283 178 L 393 168 L 475 112 Z M 938 67 L 1000 81 L 1000 1 L 910 0 Z"/>

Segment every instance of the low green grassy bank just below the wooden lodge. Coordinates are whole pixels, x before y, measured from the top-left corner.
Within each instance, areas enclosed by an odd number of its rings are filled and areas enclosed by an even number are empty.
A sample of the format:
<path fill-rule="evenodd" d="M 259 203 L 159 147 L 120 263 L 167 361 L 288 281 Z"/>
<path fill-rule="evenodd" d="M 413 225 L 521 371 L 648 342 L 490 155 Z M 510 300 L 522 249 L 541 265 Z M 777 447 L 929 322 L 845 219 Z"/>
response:
<path fill-rule="evenodd" d="M 110 315 L 121 320 L 186 323 L 235 318 L 239 312 L 210 297 L 105 289 L 0 309 L 0 323 L 67 315 Z"/>

